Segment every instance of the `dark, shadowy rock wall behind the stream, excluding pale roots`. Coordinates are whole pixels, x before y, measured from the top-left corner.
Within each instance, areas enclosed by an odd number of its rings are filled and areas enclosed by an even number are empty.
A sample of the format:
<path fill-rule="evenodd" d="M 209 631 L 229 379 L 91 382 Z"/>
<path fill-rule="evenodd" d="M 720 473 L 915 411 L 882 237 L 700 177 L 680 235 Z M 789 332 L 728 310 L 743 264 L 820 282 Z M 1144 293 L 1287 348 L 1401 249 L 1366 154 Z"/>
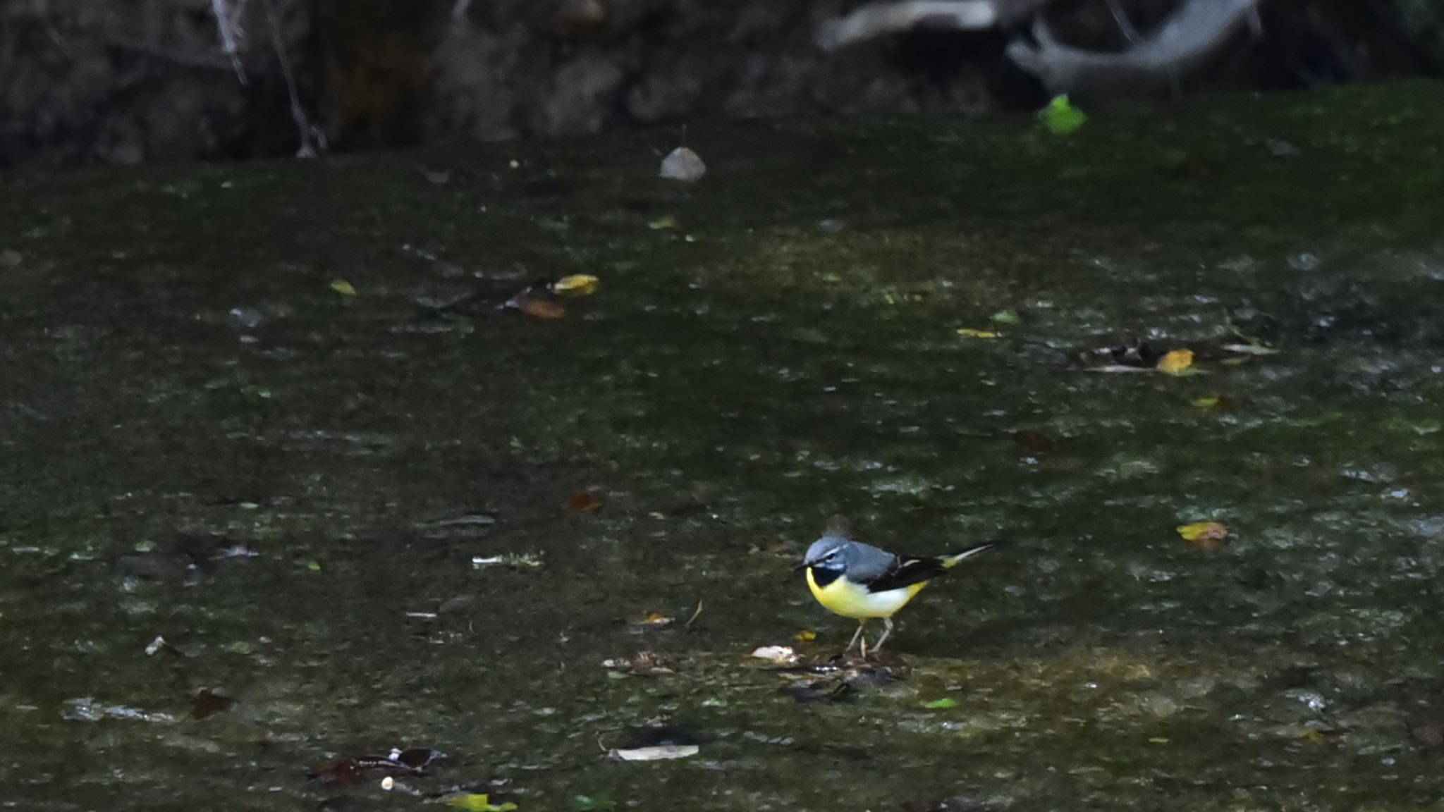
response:
<path fill-rule="evenodd" d="M 1123 4 L 1147 27 L 1170 3 Z M 299 136 L 277 40 L 302 108 L 342 150 L 1041 101 L 1004 58 L 1001 32 L 915 32 L 822 53 L 813 33 L 852 0 L 227 4 L 238 9 L 244 85 L 211 0 L 0 1 L 0 166 L 290 155 Z M 1307 87 L 1437 69 L 1444 14 L 1421 9 L 1271 0 L 1268 38 L 1243 43 L 1209 81 Z M 1121 43 L 1103 0 L 1056 0 L 1053 19 L 1070 42 Z"/>

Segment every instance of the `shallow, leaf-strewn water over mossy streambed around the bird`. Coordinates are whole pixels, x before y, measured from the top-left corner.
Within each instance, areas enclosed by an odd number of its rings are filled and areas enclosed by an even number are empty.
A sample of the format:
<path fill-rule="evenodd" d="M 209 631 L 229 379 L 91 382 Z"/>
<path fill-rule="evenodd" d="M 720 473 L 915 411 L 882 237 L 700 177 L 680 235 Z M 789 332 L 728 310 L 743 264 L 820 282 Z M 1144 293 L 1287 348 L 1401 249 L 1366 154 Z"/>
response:
<path fill-rule="evenodd" d="M 0 181 L 0 803 L 1438 805 L 1438 98 Z"/>

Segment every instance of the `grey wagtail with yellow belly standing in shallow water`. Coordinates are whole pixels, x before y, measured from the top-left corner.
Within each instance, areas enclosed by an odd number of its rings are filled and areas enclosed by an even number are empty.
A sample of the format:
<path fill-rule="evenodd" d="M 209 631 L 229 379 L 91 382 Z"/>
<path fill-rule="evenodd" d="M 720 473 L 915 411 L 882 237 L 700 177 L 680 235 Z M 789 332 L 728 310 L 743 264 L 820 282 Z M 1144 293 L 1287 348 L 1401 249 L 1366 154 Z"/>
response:
<path fill-rule="evenodd" d="M 807 572 L 807 588 L 817 602 L 833 614 L 858 620 L 858 631 L 843 650 L 846 655 L 862 642 L 862 659 L 868 659 L 868 639 L 862 630 L 868 620 L 881 617 L 882 636 L 872 646 L 877 653 L 892 634 L 892 616 L 923 591 L 923 587 L 946 574 L 965 558 L 972 558 L 1001 542 L 980 542 L 939 558 L 894 555 L 872 545 L 855 542 L 832 526 L 823 537 L 807 548 L 807 555 L 796 569 Z"/>

